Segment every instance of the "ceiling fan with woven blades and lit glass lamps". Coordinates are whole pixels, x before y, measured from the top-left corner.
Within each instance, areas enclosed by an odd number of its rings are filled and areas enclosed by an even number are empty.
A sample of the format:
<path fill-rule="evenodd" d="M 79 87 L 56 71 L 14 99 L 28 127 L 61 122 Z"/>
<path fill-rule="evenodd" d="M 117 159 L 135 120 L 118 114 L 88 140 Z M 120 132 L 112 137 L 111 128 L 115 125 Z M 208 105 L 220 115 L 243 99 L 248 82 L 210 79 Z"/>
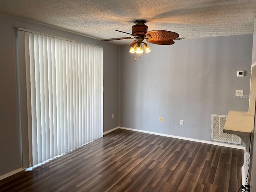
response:
<path fill-rule="evenodd" d="M 121 38 L 111 38 L 101 41 L 112 41 L 112 40 L 122 40 L 122 39 L 134 39 L 129 45 L 131 46 L 131 53 L 142 54 L 144 52 L 142 44 L 144 46 L 145 52 L 151 51 L 150 47 L 143 42 L 146 39 L 147 42 L 158 45 L 172 45 L 174 40 L 179 37 L 178 33 L 166 30 L 152 30 L 148 32 L 148 26 L 145 25 L 146 20 L 135 20 L 135 25 L 132 26 L 132 33 L 127 33 L 123 31 L 116 30 L 118 32 L 129 34 L 133 37 L 121 37 Z"/>

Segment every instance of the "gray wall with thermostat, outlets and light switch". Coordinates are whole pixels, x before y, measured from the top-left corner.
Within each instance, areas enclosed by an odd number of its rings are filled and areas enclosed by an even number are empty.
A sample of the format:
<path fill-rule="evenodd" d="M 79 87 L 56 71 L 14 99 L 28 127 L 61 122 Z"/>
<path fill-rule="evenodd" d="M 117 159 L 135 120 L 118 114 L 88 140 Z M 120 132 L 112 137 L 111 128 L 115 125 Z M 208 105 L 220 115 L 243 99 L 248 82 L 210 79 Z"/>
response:
<path fill-rule="evenodd" d="M 249 94 L 252 34 L 149 45 L 137 61 L 120 46 L 119 126 L 210 140 L 211 114 L 248 111 L 248 98 L 232 95 Z"/>

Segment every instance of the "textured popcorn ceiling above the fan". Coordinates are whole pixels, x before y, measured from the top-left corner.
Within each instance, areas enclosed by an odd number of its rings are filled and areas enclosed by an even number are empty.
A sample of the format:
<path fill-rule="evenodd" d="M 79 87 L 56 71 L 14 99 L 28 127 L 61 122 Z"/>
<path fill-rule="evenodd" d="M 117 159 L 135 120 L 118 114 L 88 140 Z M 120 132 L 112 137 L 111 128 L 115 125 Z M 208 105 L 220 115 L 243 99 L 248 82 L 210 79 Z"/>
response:
<path fill-rule="evenodd" d="M 252 34 L 256 0 L 0 0 L 0 12 L 96 39 L 128 37 L 115 29 L 131 33 L 146 19 L 148 31 L 191 39 Z"/>

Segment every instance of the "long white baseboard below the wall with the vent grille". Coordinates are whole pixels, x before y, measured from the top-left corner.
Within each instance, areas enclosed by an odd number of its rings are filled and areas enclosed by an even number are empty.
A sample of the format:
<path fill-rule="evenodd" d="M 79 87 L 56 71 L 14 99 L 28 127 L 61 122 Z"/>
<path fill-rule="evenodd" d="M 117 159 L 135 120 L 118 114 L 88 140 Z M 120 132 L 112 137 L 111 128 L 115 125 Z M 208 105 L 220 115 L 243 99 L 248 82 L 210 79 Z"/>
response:
<path fill-rule="evenodd" d="M 139 129 L 126 128 L 126 127 L 118 127 L 118 128 L 125 129 L 125 130 L 131 130 L 131 131 L 138 131 L 138 132 L 142 132 L 142 133 L 154 134 L 154 135 L 159 135 L 159 136 L 171 137 L 171 138 L 176 138 L 176 139 L 183 139 L 183 140 L 188 140 L 188 141 L 195 141 L 195 142 L 200 142 L 200 143 L 206 143 L 206 144 L 212 144 L 212 145 L 217 145 L 217 146 L 222 146 L 222 147 L 230 147 L 230 148 L 244 150 L 244 146 L 237 146 L 237 145 L 232 145 L 232 144 L 228 144 L 228 143 L 220 143 L 220 142 L 192 139 L 192 138 L 180 137 L 180 136 L 175 136 L 175 135 L 168 135 L 168 134 L 156 133 L 156 132 L 151 132 L 151 131 L 144 131 L 144 130 L 139 130 Z"/>

